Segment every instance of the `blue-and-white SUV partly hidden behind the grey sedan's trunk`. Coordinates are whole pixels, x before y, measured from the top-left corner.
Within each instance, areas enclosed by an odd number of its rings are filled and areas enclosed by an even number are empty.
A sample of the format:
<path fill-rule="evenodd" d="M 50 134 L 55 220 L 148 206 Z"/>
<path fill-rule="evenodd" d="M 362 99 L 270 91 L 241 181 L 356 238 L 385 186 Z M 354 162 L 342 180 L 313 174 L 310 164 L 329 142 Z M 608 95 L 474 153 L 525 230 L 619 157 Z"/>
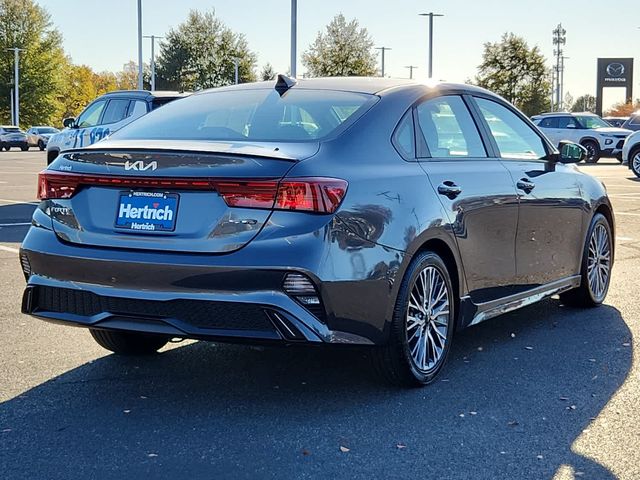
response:
<path fill-rule="evenodd" d="M 60 152 L 91 145 L 151 110 L 187 95 L 145 90 L 106 93 L 91 102 L 77 119 L 64 119 L 65 129 L 53 135 L 47 144 L 47 164 L 55 160 Z"/>

